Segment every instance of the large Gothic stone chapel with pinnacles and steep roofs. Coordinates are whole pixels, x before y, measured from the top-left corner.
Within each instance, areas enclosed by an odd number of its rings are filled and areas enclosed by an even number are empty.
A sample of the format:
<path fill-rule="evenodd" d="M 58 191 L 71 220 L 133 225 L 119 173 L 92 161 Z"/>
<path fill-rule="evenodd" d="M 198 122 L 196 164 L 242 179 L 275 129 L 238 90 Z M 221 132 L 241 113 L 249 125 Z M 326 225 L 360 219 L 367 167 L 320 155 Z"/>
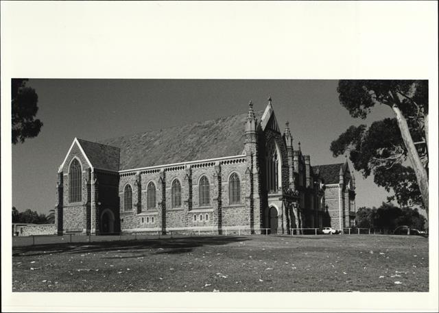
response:
<path fill-rule="evenodd" d="M 348 163 L 311 166 L 264 111 L 99 142 L 75 138 L 58 170 L 58 234 L 201 230 L 300 234 L 353 227 Z"/>

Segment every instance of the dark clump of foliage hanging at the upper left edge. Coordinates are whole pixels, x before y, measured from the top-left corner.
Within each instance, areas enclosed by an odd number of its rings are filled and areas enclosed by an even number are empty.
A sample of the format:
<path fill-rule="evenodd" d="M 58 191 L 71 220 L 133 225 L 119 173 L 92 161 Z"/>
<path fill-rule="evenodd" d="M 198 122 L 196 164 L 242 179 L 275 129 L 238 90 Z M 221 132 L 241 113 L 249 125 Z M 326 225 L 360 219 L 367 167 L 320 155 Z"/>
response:
<path fill-rule="evenodd" d="M 36 137 L 43 127 L 39 119 L 38 95 L 34 88 L 26 86 L 29 79 L 12 79 L 12 143 L 24 142 Z"/>

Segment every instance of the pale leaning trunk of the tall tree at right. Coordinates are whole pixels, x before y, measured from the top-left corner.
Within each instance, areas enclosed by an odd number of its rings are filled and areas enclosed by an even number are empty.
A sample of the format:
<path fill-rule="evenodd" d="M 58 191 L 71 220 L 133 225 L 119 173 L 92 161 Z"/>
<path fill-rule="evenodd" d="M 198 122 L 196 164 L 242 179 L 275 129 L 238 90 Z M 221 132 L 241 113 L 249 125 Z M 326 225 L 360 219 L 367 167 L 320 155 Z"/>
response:
<path fill-rule="evenodd" d="M 410 130 L 407 125 L 407 121 L 403 116 L 403 113 L 401 112 L 401 110 L 399 110 L 399 107 L 396 104 L 392 105 L 392 110 L 396 115 L 396 121 L 398 121 L 399 129 L 401 130 L 401 136 L 403 137 L 404 145 L 407 148 L 410 162 L 412 162 L 414 173 L 416 174 L 416 180 L 418 181 L 420 194 L 423 196 L 424 208 L 425 208 L 425 212 L 427 212 L 427 221 L 428 221 L 428 191 L 429 190 L 428 190 L 427 171 L 425 170 L 423 163 L 420 161 L 418 151 L 414 146 L 412 135 L 410 134 Z"/>

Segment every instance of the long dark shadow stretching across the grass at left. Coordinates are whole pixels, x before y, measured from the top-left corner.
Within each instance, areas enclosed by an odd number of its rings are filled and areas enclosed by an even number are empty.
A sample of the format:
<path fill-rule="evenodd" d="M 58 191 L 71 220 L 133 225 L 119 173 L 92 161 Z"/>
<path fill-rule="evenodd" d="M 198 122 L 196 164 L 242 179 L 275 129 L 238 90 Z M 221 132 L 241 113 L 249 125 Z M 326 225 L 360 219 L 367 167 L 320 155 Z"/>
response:
<path fill-rule="evenodd" d="M 51 243 L 28 247 L 14 247 L 12 256 L 47 255 L 48 253 L 96 253 L 96 252 L 131 252 L 139 253 L 147 249 L 156 249 L 156 254 L 188 253 L 196 247 L 209 245 L 227 245 L 233 242 L 249 240 L 246 237 L 235 236 L 204 236 L 185 238 L 162 238 L 147 240 L 117 240 L 102 242 L 66 242 Z M 124 257 L 117 257 L 124 258 Z M 126 257 L 134 258 L 134 257 Z"/>

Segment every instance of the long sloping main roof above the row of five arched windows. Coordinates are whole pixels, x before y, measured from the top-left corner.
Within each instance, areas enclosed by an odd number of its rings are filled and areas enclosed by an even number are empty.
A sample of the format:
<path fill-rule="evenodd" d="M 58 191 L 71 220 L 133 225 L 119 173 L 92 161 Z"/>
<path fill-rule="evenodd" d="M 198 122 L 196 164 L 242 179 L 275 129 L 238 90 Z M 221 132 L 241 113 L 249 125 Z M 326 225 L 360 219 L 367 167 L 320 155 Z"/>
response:
<path fill-rule="evenodd" d="M 254 112 L 258 121 L 262 113 Z M 244 151 L 247 115 L 226 116 L 100 142 L 106 145 L 104 147 L 120 149 L 119 170 L 240 155 Z"/>

